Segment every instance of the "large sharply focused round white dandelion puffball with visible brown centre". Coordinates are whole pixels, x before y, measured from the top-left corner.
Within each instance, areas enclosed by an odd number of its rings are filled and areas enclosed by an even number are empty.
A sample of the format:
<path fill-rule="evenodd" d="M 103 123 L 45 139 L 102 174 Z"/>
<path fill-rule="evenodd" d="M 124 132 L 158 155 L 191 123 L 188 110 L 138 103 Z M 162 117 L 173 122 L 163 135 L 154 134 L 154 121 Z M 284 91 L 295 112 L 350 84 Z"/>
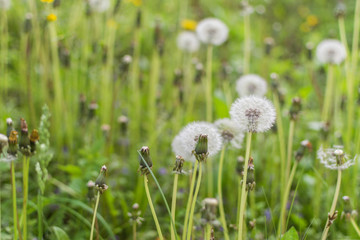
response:
<path fill-rule="evenodd" d="M 274 125 L 276 111 L 266 98 L 249 96 L 235 100 L 230 116 L 243 131 L 265 132 Z"/>

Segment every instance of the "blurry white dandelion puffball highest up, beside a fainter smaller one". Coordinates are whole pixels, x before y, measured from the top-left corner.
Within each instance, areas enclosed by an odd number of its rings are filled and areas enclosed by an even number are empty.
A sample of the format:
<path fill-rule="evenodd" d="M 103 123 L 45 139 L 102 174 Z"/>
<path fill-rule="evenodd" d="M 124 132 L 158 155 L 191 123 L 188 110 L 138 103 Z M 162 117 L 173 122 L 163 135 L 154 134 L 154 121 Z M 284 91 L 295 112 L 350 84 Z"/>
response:
<path fill-rule="evenodd" d="M 227 40 L 229 28 L 219 19 L 205 18 L 197 25 L 196 34 L 201 42 L 219 46 Z"/>

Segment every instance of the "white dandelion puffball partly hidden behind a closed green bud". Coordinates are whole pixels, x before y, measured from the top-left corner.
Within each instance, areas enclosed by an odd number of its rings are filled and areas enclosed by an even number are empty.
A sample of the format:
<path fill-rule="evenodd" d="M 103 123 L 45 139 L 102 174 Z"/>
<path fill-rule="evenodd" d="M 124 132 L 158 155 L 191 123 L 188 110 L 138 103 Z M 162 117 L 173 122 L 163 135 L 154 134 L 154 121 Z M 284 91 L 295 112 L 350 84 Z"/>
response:
<path fill-rule="evenodd" d="M 192 122 L 186 125 L 174 138 L 171 147 L 175 155 L 182 156 L 187 161 L 195 161 L 193 151 L 200 134 L 208 136 L 209 156 L 217 154 L 222 146 L 222 139 L 214 124 L 208 122 Z"/>

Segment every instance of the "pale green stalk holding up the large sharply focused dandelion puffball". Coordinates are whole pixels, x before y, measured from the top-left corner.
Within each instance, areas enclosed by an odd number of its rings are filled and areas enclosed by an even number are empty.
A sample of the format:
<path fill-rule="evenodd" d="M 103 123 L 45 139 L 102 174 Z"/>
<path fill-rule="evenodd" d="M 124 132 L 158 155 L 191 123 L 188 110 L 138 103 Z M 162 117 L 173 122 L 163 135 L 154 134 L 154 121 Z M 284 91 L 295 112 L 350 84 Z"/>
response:
<path fill-rule="evenodd" d="M 250 150 L 251 150 L 251 136 L 252 132 L 247 133 L 246 137 L 246 153 L 245 153 L 245 164 L 244 164 L 244 174 L 243 174 L 243 181 L 241 187 L 241 201 L 239 206 L 239 225 L 238 225 L 238 240 L 242 240 L 243 235 L 243 222 L 244 222 L 244 215 L 245 215 L 245 205 L 246 205 L 246 179 L 247 179 L 247 172 L 248 172 L 248 165 L 250 159 Z"/>

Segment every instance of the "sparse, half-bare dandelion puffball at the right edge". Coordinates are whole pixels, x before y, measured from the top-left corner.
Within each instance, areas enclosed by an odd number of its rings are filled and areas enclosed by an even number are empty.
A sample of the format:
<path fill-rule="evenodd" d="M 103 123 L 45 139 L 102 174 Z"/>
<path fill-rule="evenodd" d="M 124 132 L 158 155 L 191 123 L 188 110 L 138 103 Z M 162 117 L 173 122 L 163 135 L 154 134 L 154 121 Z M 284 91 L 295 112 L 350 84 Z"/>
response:
<path fill-rule="evenodd" d="M 320 146 L 316 155 L 326 168 L 332 170 L 345 170 L 355 164 L 357 156 L 350 159 L 349 155 L 343 152 L 342 146 L 334 146 L 333 148 L 324 149 Z M 339 162 L 340 160 L 340 162 Z"/>

